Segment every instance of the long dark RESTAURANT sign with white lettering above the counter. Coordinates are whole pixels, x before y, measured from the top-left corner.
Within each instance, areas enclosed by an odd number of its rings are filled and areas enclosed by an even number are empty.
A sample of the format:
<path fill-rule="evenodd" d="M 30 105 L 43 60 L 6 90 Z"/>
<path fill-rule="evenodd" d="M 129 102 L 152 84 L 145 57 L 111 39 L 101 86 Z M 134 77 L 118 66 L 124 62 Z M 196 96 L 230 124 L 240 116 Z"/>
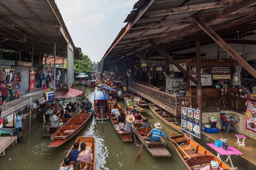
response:
<path fill-rule="evenodd" d="M 197 67 L 190 66 L 190 74 L 197 74 Z M 230 66 L 201 66 L 201 74 L 230 74 Z"/>

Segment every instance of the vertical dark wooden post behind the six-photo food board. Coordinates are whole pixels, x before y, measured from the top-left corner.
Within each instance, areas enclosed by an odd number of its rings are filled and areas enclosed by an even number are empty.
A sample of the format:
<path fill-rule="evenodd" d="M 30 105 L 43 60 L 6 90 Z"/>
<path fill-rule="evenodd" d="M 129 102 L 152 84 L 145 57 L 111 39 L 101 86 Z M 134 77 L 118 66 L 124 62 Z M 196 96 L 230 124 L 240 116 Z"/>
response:
<path fill-rule="evenodd" d="M 199 35 L 197 35 L 197 39 L 196 39 L 196 56 L 197 56 L 197 108 L 199 108 L 199 110 L 201 111 L 200 114 L 200 119 L 201 119 L 201 123 L 200 123 L 200 127 L 201 130 L 203 129 L 203 123 L 202 123 L 202 91 L 201 91 L 201 55 L 200 55 L 200 39 L 199 39 Z"/>

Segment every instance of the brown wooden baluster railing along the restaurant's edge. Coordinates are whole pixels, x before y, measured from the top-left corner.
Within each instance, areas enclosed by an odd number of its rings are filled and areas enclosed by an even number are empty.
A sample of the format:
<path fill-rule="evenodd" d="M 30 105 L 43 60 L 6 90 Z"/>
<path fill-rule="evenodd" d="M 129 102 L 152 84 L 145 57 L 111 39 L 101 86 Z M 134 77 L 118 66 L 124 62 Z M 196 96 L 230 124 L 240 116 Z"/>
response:
<path fill-rule="evenodd" d="M 181 113 L 181 107 L 198 108 L 197 96 L 170 95 L 134 82 L 129 82 L 129 89 L 176 114 Z M 246 98 L 236 96 L 202 96 L 202 110 L 211 112 L 219 108 L 220 110 L 234 110 L 243 113 L 246 111 L 246 101 Z"/>

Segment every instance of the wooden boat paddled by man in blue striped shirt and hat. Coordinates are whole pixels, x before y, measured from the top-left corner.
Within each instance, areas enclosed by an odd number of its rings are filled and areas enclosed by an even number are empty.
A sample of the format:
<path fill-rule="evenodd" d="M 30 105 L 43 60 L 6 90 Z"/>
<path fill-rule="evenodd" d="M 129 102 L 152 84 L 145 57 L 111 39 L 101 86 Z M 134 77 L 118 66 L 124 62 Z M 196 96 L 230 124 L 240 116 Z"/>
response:
<path fill-rule="evenodd" d="M 147 128 L 141 128 L 140 124 L 134 124 L 135 126 L 135 135 L 139 139 L 139 141 L 143 141 L 145 133 L 149 133 L 153 127 L 150 126 Z M 159 157 L 159 156 L 171 156 L 170 152 L 165 148 L 166 142 L 161 137 L 161 142 L 150 142 L 150 141 L 144 141 L 143 145 L 145 148 L 150 152 L 151 155 Z"/>

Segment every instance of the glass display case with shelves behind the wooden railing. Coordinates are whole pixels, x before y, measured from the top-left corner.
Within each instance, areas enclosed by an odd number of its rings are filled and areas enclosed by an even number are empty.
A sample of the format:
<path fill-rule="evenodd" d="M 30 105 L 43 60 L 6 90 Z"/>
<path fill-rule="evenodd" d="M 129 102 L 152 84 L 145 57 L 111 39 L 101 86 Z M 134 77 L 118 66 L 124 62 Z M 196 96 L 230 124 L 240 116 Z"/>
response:
<path fill-rule="evenodd" d="M 166 78 L 166 92 L 171 95 L 186 96 L 186 94 L 187 94 L 187 79 Z"/>

